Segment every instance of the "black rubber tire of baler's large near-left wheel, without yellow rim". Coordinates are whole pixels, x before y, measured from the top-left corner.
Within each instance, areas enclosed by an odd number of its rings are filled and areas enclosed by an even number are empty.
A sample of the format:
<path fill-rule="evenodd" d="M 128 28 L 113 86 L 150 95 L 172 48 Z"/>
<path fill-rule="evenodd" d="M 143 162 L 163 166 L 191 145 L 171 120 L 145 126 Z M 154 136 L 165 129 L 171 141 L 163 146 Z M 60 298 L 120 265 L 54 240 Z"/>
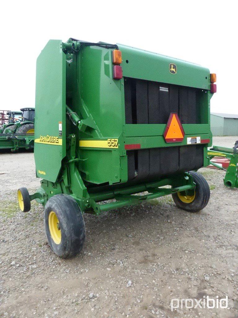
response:
<path fill-rule="evenodd" d="M 49 214 L 55 212 L 61 230 L 61 241 L 56 244 L 49 228 Z M 83 214 L 76 201 L 66 194 L 56 194 L 45 205 L 45 232 L 49 245 L 54 253 L 62 258 L 76 256 L 83 248 L 85 241 L 85 224 Z"/>

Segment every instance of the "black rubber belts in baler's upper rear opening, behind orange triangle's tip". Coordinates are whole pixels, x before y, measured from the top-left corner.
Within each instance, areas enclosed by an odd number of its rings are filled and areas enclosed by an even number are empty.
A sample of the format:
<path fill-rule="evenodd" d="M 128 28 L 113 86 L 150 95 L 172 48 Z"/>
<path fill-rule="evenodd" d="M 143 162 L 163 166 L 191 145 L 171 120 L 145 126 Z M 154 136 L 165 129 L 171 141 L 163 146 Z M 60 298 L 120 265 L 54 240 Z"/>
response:
<path fill-rule="evenodd" d="M 124 94 L 126 124 L 167 124 L 170 113 L 197 122 L 195 88 L 125 78 Z"/>

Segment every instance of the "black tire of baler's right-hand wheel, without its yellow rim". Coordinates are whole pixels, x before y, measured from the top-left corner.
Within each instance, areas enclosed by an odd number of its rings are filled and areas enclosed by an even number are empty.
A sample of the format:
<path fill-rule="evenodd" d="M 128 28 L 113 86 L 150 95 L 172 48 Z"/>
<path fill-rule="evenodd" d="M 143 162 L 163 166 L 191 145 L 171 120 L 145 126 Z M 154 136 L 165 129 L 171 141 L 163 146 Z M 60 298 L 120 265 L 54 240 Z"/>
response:
<path fill-rule="evenodd" d="M 210 199 L 210 188 L 204 177 L 197 172 L 189 171 L 193 176 L 193 181 L 196 184 L 195 198 L 191 203 L 184 203 L 180 200 L 177 193 L 173 193 L 172 197 L 178 208 L 188 212 L 199 212 L 205 208 Z"/>

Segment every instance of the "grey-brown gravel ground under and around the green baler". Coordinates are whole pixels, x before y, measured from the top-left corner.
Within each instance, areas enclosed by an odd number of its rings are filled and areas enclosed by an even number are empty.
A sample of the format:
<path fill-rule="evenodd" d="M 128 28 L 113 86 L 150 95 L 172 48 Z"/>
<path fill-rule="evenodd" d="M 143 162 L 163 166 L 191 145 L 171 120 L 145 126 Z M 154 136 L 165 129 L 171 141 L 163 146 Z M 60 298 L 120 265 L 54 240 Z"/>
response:
<path fill-rule="evenodd" d="M 179 210 L 168 196 L 84 215 L 83 251 L 63 260 L 48 245 L 42 206 L 25 214 L 17 206 L 19 186 L 39 186 L 33 153 L 0 154 L 0 164 L 1 317 L 238 316 L 238 189 L 224 187 L 224 171 L 199 170 L 211 189 L 199 213 Z M 228 295 L 228 308 L 171 312 L 171 299 L 203 295 Z"/>

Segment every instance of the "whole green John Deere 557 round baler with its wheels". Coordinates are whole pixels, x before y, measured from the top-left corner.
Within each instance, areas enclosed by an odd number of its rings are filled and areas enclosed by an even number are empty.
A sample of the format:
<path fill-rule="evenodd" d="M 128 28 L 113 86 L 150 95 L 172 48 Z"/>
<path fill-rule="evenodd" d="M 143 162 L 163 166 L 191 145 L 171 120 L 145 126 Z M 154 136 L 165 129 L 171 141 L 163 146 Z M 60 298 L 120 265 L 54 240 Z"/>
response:
<path fill-rule="evenodd" d="M 207 68 L 125 45 L 50 40 L 36 64 L 35 148 L 40 188 L 18 190 L 22 211 L 44 206 L 51 249 L 75 256 L 83 213 L 172 194 L 190 212 L 210 190 L 192 171 L 209 163 Z M 164 187 L 169 186 L 169 187 Z"/>

